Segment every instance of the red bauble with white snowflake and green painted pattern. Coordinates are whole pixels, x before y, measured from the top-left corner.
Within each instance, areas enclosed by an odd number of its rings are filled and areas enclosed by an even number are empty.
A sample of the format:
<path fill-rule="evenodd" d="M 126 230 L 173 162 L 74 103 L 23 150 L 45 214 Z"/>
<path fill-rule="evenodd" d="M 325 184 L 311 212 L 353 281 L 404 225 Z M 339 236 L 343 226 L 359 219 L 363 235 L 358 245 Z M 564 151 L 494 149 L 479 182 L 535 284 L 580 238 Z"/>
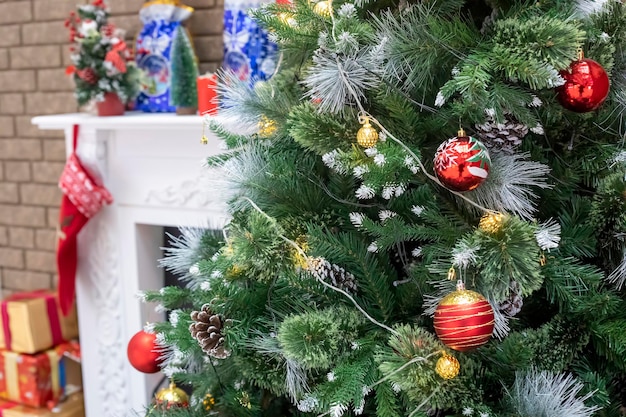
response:
<path fill-rule="evenodd" d="M 446 188 L 470 191 L 487 178 L 491 158 L 485 145 L 460 130 L 457 137 L 439 145 L 434 164 L 435 174 Z"/>

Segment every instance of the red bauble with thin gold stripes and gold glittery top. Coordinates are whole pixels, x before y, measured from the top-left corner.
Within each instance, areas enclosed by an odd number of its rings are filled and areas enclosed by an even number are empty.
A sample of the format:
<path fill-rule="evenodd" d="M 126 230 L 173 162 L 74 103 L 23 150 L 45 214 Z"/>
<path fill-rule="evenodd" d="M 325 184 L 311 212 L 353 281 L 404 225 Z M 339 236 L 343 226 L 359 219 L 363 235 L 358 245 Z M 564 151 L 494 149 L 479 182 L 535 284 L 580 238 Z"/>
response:
<path fill-rule="evenodd" d="M 475 291 L 457 289 L 445 296 L 435 310 L 439 340 L 461 352 L 487 343 L 493 333 L 493 308 Z"/>

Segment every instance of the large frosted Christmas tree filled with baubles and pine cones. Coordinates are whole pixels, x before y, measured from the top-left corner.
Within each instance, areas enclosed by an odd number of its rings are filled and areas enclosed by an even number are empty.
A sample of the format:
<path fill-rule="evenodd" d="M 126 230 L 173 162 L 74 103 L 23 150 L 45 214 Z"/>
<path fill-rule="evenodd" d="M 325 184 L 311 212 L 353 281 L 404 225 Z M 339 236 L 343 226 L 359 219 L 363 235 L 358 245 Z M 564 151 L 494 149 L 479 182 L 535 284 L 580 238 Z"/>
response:
<path fill-rule="evenodd" d="M 145 294 L 164 414 L 622 415 L 626 7 L 331 1 L 255 11 L 279 69 L 222 74 L 232 219 Z"/>

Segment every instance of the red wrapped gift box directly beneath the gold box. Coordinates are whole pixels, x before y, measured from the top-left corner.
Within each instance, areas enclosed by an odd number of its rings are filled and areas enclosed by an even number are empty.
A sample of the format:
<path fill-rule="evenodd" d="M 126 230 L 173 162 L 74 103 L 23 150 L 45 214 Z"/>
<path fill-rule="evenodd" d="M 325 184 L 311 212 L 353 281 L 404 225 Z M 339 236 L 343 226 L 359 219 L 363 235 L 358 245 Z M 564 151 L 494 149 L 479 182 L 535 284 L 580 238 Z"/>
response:
<path fill-rule="evenodd" d="M 61 359 L 69 348 L 63 344 L 35 355 L 0 351 L 0 398 L 32 407 L 56 403 L 66 382 Z"/>

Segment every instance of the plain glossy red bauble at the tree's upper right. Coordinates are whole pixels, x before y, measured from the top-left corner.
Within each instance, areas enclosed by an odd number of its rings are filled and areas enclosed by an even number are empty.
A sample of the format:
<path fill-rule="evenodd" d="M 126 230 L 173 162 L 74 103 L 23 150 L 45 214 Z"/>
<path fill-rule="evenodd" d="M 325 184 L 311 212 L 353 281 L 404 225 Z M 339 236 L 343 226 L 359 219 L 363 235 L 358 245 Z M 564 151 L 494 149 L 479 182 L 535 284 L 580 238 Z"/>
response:
<path fill-rule="evenodd" d="M 561 71 L 565 84 L 557 87 L 558 99 L 563 107 L 585 113 L 600 107 L 609 95 L 609 76 L 602 65 L 592 59 L 579 59 Z"/>

